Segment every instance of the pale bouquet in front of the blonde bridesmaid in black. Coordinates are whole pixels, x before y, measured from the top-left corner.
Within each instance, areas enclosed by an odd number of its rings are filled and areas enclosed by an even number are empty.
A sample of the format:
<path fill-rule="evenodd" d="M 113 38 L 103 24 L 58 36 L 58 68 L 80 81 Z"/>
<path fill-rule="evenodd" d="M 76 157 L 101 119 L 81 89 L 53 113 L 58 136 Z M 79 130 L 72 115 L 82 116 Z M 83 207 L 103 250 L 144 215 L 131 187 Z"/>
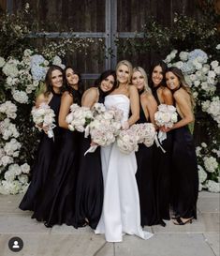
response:
<path fill-rule="evenodd" d="M 136 133 L 138 143 L 144 143 L 147 147 L 154 144 L 156 131 L 151 123 L 133 125 L 131 129 Z"/>

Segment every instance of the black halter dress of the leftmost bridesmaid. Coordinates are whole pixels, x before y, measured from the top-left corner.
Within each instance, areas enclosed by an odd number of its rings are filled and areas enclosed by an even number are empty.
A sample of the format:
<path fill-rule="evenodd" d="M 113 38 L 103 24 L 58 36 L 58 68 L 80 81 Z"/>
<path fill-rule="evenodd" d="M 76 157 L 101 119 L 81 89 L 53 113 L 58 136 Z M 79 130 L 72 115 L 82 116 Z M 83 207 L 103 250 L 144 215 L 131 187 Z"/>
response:
<path fill-rule="evenodd" d="M 45 132 L 41 132 L 40 143 L 37 147 L 37 158 L 32 167 L 31 183 L 22 198 L 19 208 L 22 210 L 34 211 L 37 207 L 37 200 L 41 189 L 47 179 L 51 160 L 55 152 L 60 148 L 61 128 L 58 127 L 58 114 L 60 110 L 61 94 L 55 94 L 49 102 L 49 106 L 55 113 L 55 125 L 53 128 L 54 140 L 49 138 Z"/>

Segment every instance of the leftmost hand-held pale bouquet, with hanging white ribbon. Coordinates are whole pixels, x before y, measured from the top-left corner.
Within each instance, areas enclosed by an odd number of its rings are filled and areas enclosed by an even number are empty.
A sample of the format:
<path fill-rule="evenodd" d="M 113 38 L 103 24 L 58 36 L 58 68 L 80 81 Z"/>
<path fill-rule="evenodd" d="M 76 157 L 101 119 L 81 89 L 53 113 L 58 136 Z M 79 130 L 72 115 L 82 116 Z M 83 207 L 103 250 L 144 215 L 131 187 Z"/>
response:
<path fill-rule="evenodd" d="M 47 103 L 43 102 L 39 105 L 39 107 L 33 107 L 31 113 L 36 127 L 39 130 L 42 130 L 43 128 L 48 128 L 48 137 L 53 138 L 54 134 L 52 129 L 56 126 L 54 125 L 55 113 L 53 112 L 51 107 Z"/>

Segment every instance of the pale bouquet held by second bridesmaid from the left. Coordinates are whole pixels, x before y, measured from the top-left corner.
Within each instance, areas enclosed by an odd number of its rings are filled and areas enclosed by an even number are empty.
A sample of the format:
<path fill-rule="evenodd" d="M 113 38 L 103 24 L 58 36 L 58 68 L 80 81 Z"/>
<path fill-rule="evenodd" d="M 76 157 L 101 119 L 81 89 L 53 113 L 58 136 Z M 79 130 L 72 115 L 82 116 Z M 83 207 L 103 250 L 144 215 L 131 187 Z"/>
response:
<path fill-rule="evenodd" d="M 70 106 L 70 113 L 66 116 L 66 122 L 70 130 L 83 132 L 85 127 L 93 120 L 90 108 L 80 107 L 78 104 Z"/>

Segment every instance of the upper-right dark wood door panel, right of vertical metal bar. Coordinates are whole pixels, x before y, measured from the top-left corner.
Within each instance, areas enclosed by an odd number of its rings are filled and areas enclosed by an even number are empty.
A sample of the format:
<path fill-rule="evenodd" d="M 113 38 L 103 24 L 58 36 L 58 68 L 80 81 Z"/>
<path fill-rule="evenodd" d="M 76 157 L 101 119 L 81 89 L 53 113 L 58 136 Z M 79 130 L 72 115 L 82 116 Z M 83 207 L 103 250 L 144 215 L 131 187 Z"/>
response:
<path fill-rule="evenodd" d="M 175 12 L 191 17 L 199 16 L 197 0 L 118 0 L 117 5 L 118 32 L 139 32 L 150 16 L 168 26 L 173 23 Z"/>

